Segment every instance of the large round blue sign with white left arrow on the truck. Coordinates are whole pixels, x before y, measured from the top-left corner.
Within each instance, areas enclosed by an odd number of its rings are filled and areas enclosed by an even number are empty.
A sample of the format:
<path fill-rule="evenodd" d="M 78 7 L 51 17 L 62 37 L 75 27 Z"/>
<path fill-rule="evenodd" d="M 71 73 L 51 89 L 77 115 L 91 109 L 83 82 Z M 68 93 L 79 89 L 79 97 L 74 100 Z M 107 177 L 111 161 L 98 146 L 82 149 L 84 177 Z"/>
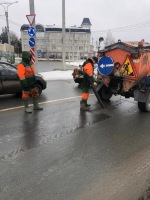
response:
<path fill-rule="evenodd" d="M 103 56 L 98 62 L 98 71 L 102 75 L 109 75 L 114 68 L 114 62 L 111 57 Z"/>

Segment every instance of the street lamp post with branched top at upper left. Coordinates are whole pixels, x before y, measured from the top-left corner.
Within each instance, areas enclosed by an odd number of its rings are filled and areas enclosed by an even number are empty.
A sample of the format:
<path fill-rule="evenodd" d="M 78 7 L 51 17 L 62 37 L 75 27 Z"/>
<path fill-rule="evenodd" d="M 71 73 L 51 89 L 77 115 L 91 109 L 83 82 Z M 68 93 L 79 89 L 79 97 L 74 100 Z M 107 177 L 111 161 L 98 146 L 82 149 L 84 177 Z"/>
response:
<path fill-rule="evenodd" d="M 4 3 L 0 3 L 1 6 L 3 6 L 4 11 L 5 11 L 5 16 L 6 16 L 6 25 L 7 25 L 7 37 L 8 37 L 8 44 L 10 45 L 10 32 L 9 32 L 9 20 L 8 20 L 8 7 L 11 6 L 14 3 L 18 3 L 18 1 L 9 3 L 9 2 L 4 2 Z M 6 6 L 4 6 L 6 5 Z"/>

